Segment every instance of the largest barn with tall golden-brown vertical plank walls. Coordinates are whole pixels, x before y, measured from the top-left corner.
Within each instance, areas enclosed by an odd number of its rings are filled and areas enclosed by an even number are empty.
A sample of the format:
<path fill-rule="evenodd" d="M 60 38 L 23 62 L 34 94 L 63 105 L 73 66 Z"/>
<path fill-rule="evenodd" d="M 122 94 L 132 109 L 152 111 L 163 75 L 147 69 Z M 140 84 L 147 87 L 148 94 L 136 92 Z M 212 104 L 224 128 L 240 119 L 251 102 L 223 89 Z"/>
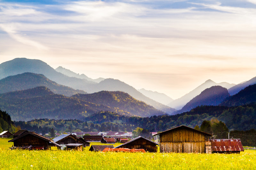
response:
<path fill-rule="evenodd" d="M 205 153 L 205 141 L 212 136 L 184 125 L 156 135 L 160 137 L 160 152 L 175 153 Z"/>

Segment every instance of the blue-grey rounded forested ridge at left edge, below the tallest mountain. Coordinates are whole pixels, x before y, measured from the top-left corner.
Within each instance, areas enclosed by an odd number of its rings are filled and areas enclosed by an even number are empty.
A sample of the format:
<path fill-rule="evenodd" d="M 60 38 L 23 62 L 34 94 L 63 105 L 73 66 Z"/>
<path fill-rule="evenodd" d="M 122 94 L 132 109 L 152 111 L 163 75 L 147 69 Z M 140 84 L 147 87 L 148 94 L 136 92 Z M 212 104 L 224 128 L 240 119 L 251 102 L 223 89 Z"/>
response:
<path fill-rule="evenodd" d="M 26 90 L 38 86 L 48 87 L 52 92 L 65 96 L 72 96 L 76 93 L 86 94 L 83 90 L 75 90 L 68 86 L 59 85 L 42 74 L 28 72 L 1 79 L 0 93 Z"/>

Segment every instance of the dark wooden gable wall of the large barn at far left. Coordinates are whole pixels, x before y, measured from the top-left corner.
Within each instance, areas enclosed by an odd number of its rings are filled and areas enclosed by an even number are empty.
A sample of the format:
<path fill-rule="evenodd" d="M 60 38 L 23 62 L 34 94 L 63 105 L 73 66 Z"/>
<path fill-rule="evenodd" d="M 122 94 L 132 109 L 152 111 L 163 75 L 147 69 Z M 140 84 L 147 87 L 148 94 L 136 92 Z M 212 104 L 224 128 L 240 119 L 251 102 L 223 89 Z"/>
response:
<path fill-rule="evenodd" d="M 35 137 L 31 134 L 28 134 L 24 137 L 21 137 L 13 141 L 13 146 L 22 147 L 22 146 L 44 146 L 44 149 L 49 148 L 49 143 L 39 137 Z"/>

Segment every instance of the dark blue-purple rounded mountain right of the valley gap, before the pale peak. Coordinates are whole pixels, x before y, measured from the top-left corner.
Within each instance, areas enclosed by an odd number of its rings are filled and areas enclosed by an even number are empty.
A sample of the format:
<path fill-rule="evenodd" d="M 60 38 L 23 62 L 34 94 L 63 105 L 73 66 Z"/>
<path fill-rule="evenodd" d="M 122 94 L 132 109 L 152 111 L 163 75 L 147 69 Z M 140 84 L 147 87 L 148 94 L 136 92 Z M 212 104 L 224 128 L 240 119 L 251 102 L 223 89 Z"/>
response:
<path fill-rule="evenodd" d="M 199 95 L 190 100 L 179 113 L 189 111 L 197 106 L 217 106 L 227 97 L 229 97 L 228 89 L 218 85 L 205 89 Z"/>

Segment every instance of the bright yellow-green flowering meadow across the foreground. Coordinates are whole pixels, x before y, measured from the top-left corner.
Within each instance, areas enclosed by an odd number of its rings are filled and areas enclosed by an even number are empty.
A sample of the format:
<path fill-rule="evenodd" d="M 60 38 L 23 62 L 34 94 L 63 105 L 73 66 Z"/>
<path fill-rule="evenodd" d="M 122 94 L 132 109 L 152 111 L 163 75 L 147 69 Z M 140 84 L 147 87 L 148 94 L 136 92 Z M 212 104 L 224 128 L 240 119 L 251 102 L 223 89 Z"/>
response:
<path fill-rule="evenodd" d="M 1 139 L 2 140 L 2 139 Z M 0 141 L 1 141 L 0 140 Z M 1 142 L 1 144 L 4 142 Z M 97 144 L 97 143 L 93 143 Z M 98 143 L 99 144 L 99 143 Z M 1 145 L 2 148 L 2 145 Z M 255 169 L 256 152 L 241 154 L 116 153 L 0 149 L 0 169 Z"/>

